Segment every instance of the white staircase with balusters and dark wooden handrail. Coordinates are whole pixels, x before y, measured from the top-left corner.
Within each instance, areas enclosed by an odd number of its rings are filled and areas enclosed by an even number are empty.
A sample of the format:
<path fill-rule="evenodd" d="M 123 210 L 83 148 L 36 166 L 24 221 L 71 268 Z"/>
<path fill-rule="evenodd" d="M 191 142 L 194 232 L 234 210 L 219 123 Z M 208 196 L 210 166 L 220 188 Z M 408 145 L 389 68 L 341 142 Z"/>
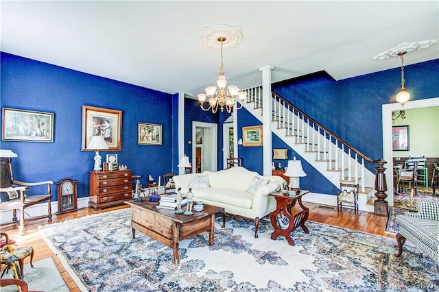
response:
<path fill-rule="evenodd" d="M 244 107 L 262 122 L 262 87 L 245 91 L 248 97 Z M 375 164 L 375 160 L 361 154 L 283 97 L 272 93 L 271 98 L 272 132 L 337 188 L 340 182 L 359 184 L 359 210 L 374 212 L 375 174 L 365 164 Z"/>

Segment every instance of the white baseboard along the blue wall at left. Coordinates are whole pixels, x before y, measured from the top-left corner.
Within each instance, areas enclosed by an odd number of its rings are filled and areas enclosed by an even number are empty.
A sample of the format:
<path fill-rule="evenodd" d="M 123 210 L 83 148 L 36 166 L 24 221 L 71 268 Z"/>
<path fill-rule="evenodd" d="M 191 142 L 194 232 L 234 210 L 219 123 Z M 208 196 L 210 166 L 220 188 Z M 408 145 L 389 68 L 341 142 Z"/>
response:
<path fill-rule="evenodd" d="M 80 197 L 78 198 L 78 209 L 80 208 L 88 208 L 88 197 Z M 58 212 L 58 202 L 51 202 L 51 210 L 52 215 L 55 215 Z M 37 217 L 40 215 L 47 214 L 47 202 L 36 204 L 34 206 L 30 206 L 25 208 L 25 219 L 29 219 L 32 217 Z M 19 212 L 17 214 L 19 217 Z M 1 210 L 0 211 L 0 224 L 12 223 L 12 210 Z"/>

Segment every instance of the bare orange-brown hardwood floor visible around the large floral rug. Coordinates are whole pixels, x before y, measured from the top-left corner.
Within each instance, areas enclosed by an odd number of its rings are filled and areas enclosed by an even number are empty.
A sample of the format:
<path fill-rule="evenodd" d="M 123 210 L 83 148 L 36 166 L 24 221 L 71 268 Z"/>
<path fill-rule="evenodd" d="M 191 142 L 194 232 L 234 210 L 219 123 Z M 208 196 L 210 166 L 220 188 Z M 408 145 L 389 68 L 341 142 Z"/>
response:
<path fill-rule="evenodd" d="M 363 232 L 395 238 L 394 235 L 385 233 L 385 223 L 387 222 L 388 218 L 386 216 L 379 216 L 370 212 L 362 211 L 359 211 L 358 214 L 354 215 L 353 210 L 348 208 L 344 208 L 342 212 L 337 212 L 336 207 L 327 206 L 329 208 L 322 208 L 322 205 L 320 204 L 313 204 L 308 202 L 304 202 L 304 205 L 309 208 L 309 221 L 315 221 L 329 224 L 331 226 L 340 226 L 353 230 L 359 230 Z M 69 212 L 62 215 L 54 215 L 51 223 L 53 224 L 69 219 L 80 218 L 86 215 L 93 215 L 100 212 L 108 212 L 109 210 L 117 210 L 121 208 L 129 208 L 129 206 L 117 206 L 99 211 L 95 211 L 91 208 L 82 208 L 75 212 Z M 73 279 L 69 276 L 69 273 L 67 273 L 67 271 L 64 269 L 64 266 L 62 265 L 58 256 L 56 256 L 56 254 L 52 252 L 47 243 L 45 243 L 44 239 L 40 236 L 40 233 L 38 232 L 38 225 L 45 225 L 46 223 L 46 219 L 41 219 L 29 223 L 29 225 L 27 225 L 26 227 L 26 234 L 23 235 L 20 235 L 18 232 L 18 228 L 12 224 L 8 226 L 2 226 L 1 232 L 8 233 L 10 238 L 14 239 L 16 241 L 16 244 L 19 246 L 34 247 L 34 262 L 43 258 L 53 258 L 70 291 L 80 291 Z M 312 232 L 312 230 L 310 231 Z M 26 258 L 25 263 L 29 263 L 29 258 Z"/>

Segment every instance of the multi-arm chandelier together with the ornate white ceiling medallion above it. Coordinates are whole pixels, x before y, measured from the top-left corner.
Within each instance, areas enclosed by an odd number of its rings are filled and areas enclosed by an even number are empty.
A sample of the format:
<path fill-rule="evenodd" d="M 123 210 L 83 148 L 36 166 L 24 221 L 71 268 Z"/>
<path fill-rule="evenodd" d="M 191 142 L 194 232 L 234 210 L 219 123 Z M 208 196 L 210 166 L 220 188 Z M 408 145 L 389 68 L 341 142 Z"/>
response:
<path fill-rule="evenodd" d="M 224 76 L 224 66 L 222 62 L 222 48 L 223 45 L 229 47 L 230 45 L 238 45 L 242 38 L 241 27 L 233 27 L 227 24 L 215 25 L 213 27 L 205 27 L 204 33 L 202 34 L 202 39 L 205 47 L 215 47 L 218 46 L 221 49 L 221 65 L 219 66 L 219 77 L 216 86 L 209 86 L 206 88 L 206 93 L 200 93 L 197 95 L 198 101 L 200 102 L 200 107 L 202 110 L 209 111 L 215 114 L 217 112 L 218 106 L 221 108 L 221 112 L 226 108 L 226 112 L 230 114 L 232 109 L 235 108 L 239 110 L 244 106 L 244 100 L 247 97 L 245 91 L 240 91 L 237 86 L 228 86 L 226 90 L 226 76 Z M 206 98 L 209 98 L 206 101 Z M 241 105 L 237 104 L 237 101 Z M 207 102 L 208 108 L 204 108 L 204 102 Z M 235 106 L 236 103 L 236 106 Z"/>

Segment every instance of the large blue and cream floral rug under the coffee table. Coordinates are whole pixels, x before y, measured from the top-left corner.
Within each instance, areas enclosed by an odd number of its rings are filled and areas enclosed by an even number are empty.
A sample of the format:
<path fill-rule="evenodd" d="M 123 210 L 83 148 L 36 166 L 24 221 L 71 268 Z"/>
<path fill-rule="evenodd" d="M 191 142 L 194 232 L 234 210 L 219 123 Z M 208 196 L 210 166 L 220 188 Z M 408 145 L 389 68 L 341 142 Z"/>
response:
<path fill-rule="evenodd" d="M 295 246 L 270 239 L 263 220 L 227 217 L 215 222 L 215 245 L 203 232 L 172 250 L 138 232 L 131 239 L 130 210 L 116 210 L 41 227 L 54 252 L 84 291 L 425 291 L 439 287 L 437 265 L 394 239 L 308 222 L 292 232 Z"/>

